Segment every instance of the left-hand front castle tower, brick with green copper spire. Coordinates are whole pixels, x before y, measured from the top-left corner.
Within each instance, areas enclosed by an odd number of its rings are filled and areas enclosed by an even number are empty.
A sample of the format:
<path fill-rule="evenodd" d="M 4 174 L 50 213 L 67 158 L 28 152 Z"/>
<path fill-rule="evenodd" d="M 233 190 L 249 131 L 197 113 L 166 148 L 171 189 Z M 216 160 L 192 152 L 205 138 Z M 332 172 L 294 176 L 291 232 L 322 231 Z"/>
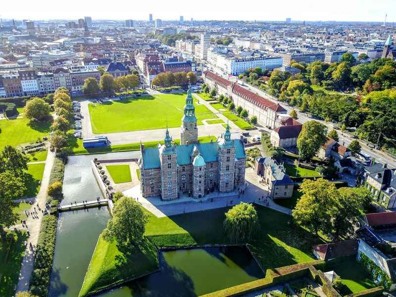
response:
<path fill-rule="evenodd" d="M 162 200 L 177 199 L 178 185 L 176 149 L 172 145 L 172 138 L 169 136 L 168 128 L 166 128 L 164 144 L 159 148 L 159 159 L 161 163 Z"/>

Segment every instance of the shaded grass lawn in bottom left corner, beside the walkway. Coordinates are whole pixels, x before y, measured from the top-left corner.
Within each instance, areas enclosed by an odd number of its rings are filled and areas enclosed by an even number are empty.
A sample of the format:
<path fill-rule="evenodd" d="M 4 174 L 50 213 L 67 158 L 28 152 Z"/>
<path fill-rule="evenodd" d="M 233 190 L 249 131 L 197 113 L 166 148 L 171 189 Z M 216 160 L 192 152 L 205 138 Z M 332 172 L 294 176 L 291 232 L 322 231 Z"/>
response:
<path fill-rule="evenodd" d="M 14 296 L 14 287 L 18 283 L 19 271 L 27 234 L 19 231 L 12 232 L 14 242 L 3 244 L 0 240 L 0 296 Z"/>

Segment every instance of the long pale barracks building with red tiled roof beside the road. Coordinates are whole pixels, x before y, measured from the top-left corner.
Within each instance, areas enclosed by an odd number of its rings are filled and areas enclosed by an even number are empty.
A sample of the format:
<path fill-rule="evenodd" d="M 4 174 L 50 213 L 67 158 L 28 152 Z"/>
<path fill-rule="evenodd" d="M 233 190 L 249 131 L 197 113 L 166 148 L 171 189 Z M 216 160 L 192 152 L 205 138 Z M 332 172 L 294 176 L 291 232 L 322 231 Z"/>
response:
<path fill-rule="evenodd" d="M 222 94 L 232 99 L 235 106 L 242 106 L 249 113 L 249 117 L 255 115 L 259 123 L 271 129 L 280 126 L 278 115 L 286 114 L 287 111 L 278 103 L 265 99 L 239 85 L 231 82 L 210 71 L 202 74 L 205 84 L 210 89 L 216 89 L 217 94 Z"/>

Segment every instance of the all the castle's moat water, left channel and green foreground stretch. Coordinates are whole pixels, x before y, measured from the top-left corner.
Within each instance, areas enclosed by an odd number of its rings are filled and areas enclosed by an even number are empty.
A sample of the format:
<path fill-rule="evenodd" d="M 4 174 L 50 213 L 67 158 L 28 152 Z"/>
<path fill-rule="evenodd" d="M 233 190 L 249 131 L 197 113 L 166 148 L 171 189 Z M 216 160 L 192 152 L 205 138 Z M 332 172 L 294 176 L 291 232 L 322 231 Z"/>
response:
<path fill-rule="evenodd" d="M 139 157 L 138 152 L 95 157 Z M 92 155 L 73 156 L 65 169 L 62 204 L 101 197 L 91 172 Z M 49 297 L 77 297 L 99 234 L 110 215 L 106 207 L 59 214 Z M 161 270 L 98 296 L 199 296 L 264 277 L 245 247 L 178 249 L 160 253 Z"/>

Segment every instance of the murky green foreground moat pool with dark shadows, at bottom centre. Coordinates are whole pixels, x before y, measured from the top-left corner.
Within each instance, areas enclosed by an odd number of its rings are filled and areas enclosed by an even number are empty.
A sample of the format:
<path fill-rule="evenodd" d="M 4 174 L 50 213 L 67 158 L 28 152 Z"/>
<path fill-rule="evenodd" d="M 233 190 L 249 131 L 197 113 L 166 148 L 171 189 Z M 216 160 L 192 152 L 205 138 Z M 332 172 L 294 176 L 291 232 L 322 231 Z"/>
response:
<path fill-rule="evenodd" d="M 100 296 L 200 296 L 265 275 L 246 247 L 163 251 L 161 270 Z"/>

